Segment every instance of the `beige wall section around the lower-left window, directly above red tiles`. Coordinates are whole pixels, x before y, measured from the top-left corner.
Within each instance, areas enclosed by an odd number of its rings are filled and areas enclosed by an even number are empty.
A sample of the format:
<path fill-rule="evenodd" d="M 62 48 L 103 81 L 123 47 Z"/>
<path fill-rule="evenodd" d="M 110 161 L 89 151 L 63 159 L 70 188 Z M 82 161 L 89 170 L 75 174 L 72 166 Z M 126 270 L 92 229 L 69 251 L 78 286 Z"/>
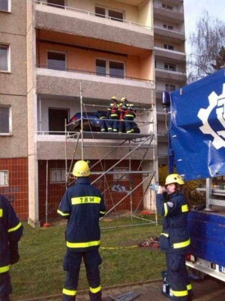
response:
<path fill-rule="evenodd" d="M 27 157 L 27 98 L 0 95 L 0 105 L 11 105 L 12 112 L 12 136 L 0 136 L 0 158 Z"/>

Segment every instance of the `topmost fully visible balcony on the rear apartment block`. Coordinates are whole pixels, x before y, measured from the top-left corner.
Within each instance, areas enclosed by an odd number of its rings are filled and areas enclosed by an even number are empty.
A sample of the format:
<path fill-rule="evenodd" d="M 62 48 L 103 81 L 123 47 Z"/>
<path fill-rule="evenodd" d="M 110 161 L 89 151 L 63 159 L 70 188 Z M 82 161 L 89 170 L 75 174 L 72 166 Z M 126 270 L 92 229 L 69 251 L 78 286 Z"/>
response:
<path fill-rule="evenodd" d="M 153 6 L 154 18 L 158 20 L 165 20 L 169 23 L 179 24 L 184 22 L 184 12 L 176 11 L 175 9 L 169 10 L 162 6 L 154 4 Z"/>

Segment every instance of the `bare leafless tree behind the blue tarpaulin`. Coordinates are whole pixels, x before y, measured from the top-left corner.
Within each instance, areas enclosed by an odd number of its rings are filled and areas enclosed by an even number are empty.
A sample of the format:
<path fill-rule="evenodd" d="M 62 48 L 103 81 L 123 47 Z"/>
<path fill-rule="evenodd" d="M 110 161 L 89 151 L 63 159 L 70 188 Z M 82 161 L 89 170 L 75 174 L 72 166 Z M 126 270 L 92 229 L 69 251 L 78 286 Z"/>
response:
<path fill-rule="evenodd" d="M 189 36 L 188 82 L 214 73 L 225 63 L 225 23 L 205 11 Z"/>

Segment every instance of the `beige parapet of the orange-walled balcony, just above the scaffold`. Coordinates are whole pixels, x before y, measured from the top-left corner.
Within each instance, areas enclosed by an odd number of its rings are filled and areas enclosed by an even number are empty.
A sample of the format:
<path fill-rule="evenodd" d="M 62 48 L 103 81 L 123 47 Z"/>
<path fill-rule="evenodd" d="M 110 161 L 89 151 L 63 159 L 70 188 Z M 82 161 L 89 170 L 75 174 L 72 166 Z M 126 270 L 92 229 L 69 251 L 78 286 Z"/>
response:
<path fill-rule="evenodd" d="M 80 80 L 51 76 L 37 76 L 37 93 L 50 95 L 80 96 Z M 82 80 L 83 97 L 109 99 L 127 97 L 130 101 L 149 104 L 151 89 Z"/>

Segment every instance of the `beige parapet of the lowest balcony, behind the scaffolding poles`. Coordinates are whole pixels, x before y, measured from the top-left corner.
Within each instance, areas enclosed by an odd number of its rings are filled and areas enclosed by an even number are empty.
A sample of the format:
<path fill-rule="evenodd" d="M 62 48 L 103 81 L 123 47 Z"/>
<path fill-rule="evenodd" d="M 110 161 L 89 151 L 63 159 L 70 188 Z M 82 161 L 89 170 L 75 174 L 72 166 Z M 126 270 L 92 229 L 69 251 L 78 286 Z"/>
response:
<path fill-rule="evenodd" d="M 117 134 L 115 134 L 117 135 Z M 112 142 L 107 142 L 107 143 L 103 143 L 103 142 L 99 142 L 99 140 L 97 140 L 99 144 L 101 145 L 105 145 L 107 146 L 110 145 L 112 146 Z M 121 140 L 120 140 L 121 141 Z M 122 142 L 122 141 L 121 141 Z M 105 156 L 107 153 L 110 152 L 110 150 L 113 150 L 113 148 L 111 147 L 101 147 L 98 148 L 98 152 L 97 149 L 94 146 L 93 141 L 92 142 L 85 142 L 84 141 L 84 145 L 85 146 L 91 146 L 91 147 L 85 147 L 84 150 L 84 159 L 99 159 L 98 153 L 100 154 L 100 157 Z M 75 142 L 69 142 L 67 144 L 68 148 L 67 148 L 67 159 L 72 159 L 73 153 L 74 153 L 74 149 L 75 149 Z M 118 148 L 118 143 L 115 145 L 115 147 L 117 146 Z M 138 143 L 134 144 L 134 146 L 138 146 Z M 125 155 L 127 155 L 129 152 L 129 148 L 121 148 L 120 150 L 118 150 L 117 152 L 113 152 L 112 154 L 110 154 L 106 159 L 121 159 L 122 157 L 124 157 Z M 135 150 L 132 154 L 131 154 L 131 159 L 141 159 L 143 158 L 143 155 L 145 154 L 145 149 L 143 150 Z M 129 157 L 129 156 L 128 156 Z M 127 158 L 128 158 L 127 157 Z M 59 160 L 59 159 L 65 159 L 65 142 L 37 142 L 37 158 L 39 160 Z M 153 150 L 152 148 L 147 151 L 147 155 L 145 157 L 145 159 L 152 159 L 153 158 Z M 79 146 L 78 149 L 76 151 L 76 155 L 75 155 L 75 159 L 81 159 L 81 143 L 79 142 Z"/>

